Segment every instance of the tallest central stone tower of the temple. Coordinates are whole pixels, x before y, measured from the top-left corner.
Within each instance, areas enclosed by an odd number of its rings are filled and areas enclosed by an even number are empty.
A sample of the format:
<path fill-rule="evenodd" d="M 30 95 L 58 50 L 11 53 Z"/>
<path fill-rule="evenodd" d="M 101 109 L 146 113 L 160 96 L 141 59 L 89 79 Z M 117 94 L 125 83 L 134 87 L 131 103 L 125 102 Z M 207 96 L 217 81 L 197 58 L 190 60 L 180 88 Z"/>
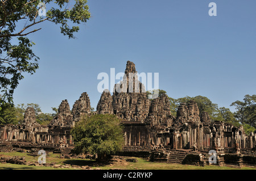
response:
<path fill-rule="evenodd" d="M 113 112 L 124 121 L 144 122 L 150 100 L 146 90 L 138 80 L 137 71 L 133 62 L 127 61 L 123 80 L 114 86 Z"/>

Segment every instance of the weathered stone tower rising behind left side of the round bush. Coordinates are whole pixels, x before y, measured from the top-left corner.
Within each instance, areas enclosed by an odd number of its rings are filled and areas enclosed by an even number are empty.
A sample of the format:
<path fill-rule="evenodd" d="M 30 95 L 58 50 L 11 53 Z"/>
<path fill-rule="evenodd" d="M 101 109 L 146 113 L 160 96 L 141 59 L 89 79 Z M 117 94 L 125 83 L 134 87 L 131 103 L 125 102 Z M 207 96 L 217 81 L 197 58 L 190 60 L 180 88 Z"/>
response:
<path fill-rule="evenodd" d="M 81 116 L 90 114 L 90 99 L 86 92 L 83 92 L 72 108 L 73 121 L 79 121 Z"/>

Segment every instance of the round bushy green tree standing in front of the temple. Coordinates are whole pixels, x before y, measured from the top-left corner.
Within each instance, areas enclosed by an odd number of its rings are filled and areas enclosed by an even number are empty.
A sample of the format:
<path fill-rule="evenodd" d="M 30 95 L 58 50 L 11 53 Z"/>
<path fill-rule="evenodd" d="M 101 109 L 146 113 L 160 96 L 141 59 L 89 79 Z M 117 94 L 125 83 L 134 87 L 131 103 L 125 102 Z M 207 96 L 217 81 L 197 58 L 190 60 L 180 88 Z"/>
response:
<path fill-rule="evenodd" d="M 72 129 L 72 136 L 77 154 L 97 154 L 98 161 L 106 161 L 124 144 L 123 128 L 115 115 L 83 117 Z"/>

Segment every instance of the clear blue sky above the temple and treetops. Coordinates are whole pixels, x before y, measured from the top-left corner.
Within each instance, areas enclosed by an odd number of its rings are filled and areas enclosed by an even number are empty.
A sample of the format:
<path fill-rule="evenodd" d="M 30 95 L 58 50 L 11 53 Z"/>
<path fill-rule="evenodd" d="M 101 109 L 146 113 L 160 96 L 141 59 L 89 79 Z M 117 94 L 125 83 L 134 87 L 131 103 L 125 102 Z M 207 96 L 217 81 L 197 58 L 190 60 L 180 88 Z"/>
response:
<path fill-rule="evenodd" d="M 210 2 L 217 16 L 209 16 Z M 45 113 L 67 99 L 72 108 L 82 92 L 91 106 L 100 99 L 101 72 L 124 72 L 133 61 L 138 73 L 159 73 L 168 96 L 207 96 L 219 107 L 256 90 L 255 0 L 89 0 L 92 18 L 76 39 L 44 23 L 30 35 L 39 69 L 26 75 L 14 103 L 37 103 Z M 112 89 L 112 88 L 111 88 Z"/>

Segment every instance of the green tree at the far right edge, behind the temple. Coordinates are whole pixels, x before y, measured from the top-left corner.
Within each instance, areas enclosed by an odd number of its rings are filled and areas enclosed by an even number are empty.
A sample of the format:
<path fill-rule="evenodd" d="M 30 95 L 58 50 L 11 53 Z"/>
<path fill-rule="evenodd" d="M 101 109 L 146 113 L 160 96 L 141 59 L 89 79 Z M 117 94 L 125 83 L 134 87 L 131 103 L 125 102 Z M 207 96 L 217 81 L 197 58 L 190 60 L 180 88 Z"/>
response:
<path fill-rule="evenodd" d="M 256 95 L 245 95 L 243 102 L 237 100 L 230 106 L 236 106 L 235 117 L 241 121 L 242 124 L 248 124 L 256 128 Z"/>

